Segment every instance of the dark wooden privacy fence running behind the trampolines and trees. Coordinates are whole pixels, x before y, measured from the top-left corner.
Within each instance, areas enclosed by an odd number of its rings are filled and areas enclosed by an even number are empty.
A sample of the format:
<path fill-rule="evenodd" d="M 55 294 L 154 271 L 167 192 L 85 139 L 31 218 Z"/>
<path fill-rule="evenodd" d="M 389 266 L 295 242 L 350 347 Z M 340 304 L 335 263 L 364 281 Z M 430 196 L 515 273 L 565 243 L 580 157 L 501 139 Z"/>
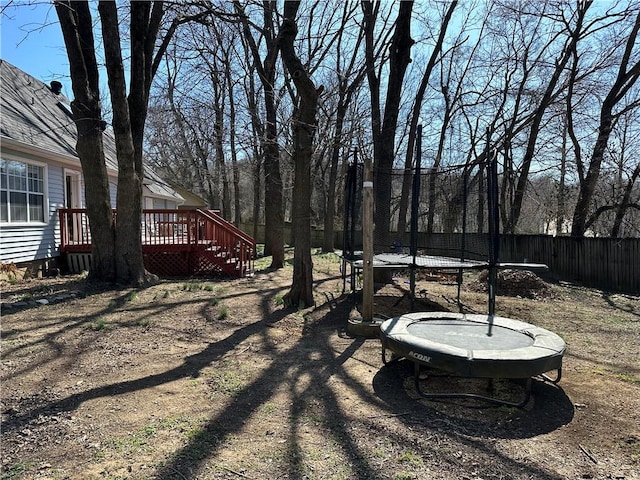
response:
<path fill-rule="evenodd" d="M 253 227 L 244 225 L 247 231 Z M 284 241 L 292 243 L 290 226 L 285 226 Z M 264 243 L 264 227 L 257 232 Z M 311 232 L 311 245 L 321 247 L 322 230 Z M 342 249 L 342 231 L 335 232 L 334 245 Z M 361 239 L 356 232 L 357 239 Z M 418 245 L 430 255 L 457 256 L 463 236 L 459 233 L 420 233 Z M 406 233 L 402 245 L 409 245 Z M 488 256 L 488 235 L 468 233 L 464 238 L 467 258 L 483 260 Z M 361 245 L 361 244 L 360 244 Z M 361 248 L 361 247 L 358 247 Z M 387 251 L 392 251 L 389 246 Z M 576 282 L 603 290 L 640 294 L 640 238 L 572 238 L 549 235 L 502 235 L 500 261 L 544 263 L 556 280 Z"/>

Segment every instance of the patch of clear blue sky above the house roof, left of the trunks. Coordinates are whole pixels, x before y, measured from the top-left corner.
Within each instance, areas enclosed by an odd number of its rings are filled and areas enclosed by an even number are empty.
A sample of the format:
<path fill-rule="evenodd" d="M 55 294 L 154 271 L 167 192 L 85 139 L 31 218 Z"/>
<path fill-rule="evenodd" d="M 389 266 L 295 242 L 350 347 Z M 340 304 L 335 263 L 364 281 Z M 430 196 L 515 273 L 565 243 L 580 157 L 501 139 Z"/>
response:
<path fill-rule="evenodd" d="M 71 93 L 69 61 L 51 2 L 0 0 L 0 57 L 31 76 L 58 80 Z"/>

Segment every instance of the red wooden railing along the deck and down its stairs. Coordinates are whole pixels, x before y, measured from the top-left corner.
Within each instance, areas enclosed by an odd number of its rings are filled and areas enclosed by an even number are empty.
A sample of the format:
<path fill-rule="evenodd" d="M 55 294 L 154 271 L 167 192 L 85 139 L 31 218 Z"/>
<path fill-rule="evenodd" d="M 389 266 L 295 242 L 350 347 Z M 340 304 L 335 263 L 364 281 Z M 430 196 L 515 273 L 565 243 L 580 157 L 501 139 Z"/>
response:
<path fill-rule="evenodd" d="M 60 252 L 90 252 L 91 232 L 86 209 L 59 210 Z M 114 218 L 116 212 L 114 210 Z M 222 218 L 216 210 L 143 210 L 142 247 L 148 252 L 208 252 L 240 275 L 253 271 L 255 240 Z M 231 270 L 233 265 L 229 266 Z"/>

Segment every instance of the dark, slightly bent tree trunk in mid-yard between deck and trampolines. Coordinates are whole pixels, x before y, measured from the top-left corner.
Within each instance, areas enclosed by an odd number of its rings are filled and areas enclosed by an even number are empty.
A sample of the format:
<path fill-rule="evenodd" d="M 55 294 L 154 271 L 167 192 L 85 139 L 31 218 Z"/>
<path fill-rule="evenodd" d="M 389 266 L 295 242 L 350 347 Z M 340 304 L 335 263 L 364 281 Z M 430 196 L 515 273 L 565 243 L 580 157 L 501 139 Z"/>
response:
<path fill-rule="evenodd" d="M 311 156 L 316 130 L 316 110 L 319 92 L 293 48 L 298 27 L 296 12 L 300 2 L 284 4 L 284 20 L 280 29 L 280 51 L 296 86 L 298 105 L 293 114 L 293 231 L 295 254 L 293 284 L 286 302 L 293 306 L 313 305 L 313 263 L 311 261 Z"/>

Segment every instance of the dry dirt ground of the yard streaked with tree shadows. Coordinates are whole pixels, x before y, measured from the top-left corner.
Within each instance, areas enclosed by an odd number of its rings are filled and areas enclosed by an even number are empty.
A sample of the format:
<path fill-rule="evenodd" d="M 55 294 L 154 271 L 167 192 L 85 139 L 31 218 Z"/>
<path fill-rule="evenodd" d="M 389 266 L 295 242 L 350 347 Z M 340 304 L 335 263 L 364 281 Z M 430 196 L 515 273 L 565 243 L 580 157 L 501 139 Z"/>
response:
<path fill-rule="evenodd" d="M 282 304 L 292 267 L 266 265 L 136 290 L 3 282 L 1 479 L 640 479 L 639 297 L 506 278 L 496 313 L 568 346 L 560 383 L 534 379 L 518 409 L 420 398 L 408 361 L 346 331 L 359 300 L 336 257 L 314 255 L 307 309 Z M 409 311 L 407 289 L 377 290 L 376 314 Z M 486 313 L 477 278 L 456 290 L 421 276 L 414 307 Z"/>

